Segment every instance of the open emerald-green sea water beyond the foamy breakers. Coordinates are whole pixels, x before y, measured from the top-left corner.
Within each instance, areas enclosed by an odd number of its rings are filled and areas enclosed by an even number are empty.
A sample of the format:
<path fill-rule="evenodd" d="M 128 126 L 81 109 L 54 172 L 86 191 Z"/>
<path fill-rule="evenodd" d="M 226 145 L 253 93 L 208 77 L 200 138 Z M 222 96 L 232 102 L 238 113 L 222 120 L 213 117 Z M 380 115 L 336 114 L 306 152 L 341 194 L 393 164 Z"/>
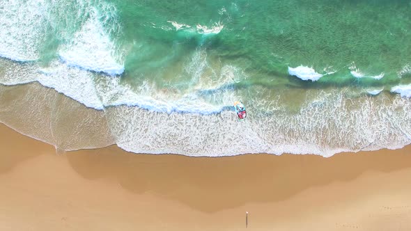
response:
<path fill-rule="evenodd" d="M 336 71 L 318 86 L 392 86 L 411 54 L 410 1 L 121 1 L 113 2 L 124 23 L 121 42 L 136 41 L 125 70 L 155 72 L 178 65 L 196 49 L 210 59 L 242 68 L 245 84 L 284 88 L 312 85 L 288 76 L 305 65 Z M 170 28 L 170 21 L 224 25 L 217 35 Z M 162 29 L 166 28 L 166 30 Z M 141 65 L 144 63 L 145 65 Z M 384 73 L 380 81 L 355 79 Z M 143 70 L 141 70 L 143 69 Z M 187 77 L 189 78 L 189 77 Z"/>

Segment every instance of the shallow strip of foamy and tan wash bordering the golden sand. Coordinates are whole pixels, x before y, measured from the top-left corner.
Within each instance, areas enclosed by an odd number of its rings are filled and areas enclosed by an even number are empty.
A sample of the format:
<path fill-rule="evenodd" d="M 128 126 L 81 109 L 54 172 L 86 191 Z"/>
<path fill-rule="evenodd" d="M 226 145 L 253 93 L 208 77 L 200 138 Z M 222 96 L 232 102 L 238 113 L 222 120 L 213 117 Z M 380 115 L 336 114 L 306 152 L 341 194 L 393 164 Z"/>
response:
<path fill-rule="evenodd" d="M 218 116 L 156 113 L 134 106 L 98 111 L 37 82 L 21 86 L 0 84 L 0 88 L 2 122 L 22 134 L 56 144 L 62 150 L 101 148 L 118 143 L 124 150 L 135 153 L 217 157 L 268 152 L 316 153 L 329 157 L 347 149 L 398 148 L 409 143 L 401 130 L 409 129 L 407 121 L 411 113 L 396 110 L 396 106 L 408 109 L 410 101 L 387 94 L 362 97 L 359 104 L 353 104 L 349 97 L 339 94 L 340 90 L 330 89 L 329 93 L 337 93 L 331 98 L 323 91 L 315 91 L 302 97 L 300 101 L 307 105 L 301 105 L 298 113 L 291 107 L 290 111 L 277 111 L 276 116 L 274 113 L 263 118 L 251 116 L 238 123 L 231 111 Z M 304 93 L 304 90 L 298 91 Z M 316 97 L 327 98 L 325 108 L 321 109 L 323 113 L 318 114 Z M 384 106 L 385 100 L 389 100 L 391 106 Z M 336 108 L 332 106 L 334 103 Z M 392 111 L 395 113 L 390 114 Z M 318 120 L 313 115 L 321 118 Z M 391 126 L 390 121 L 399 127 Z M 239 138 L 238 134 L 246 136 Z M 318 145 L 313 145 L 315 143 Z"/>

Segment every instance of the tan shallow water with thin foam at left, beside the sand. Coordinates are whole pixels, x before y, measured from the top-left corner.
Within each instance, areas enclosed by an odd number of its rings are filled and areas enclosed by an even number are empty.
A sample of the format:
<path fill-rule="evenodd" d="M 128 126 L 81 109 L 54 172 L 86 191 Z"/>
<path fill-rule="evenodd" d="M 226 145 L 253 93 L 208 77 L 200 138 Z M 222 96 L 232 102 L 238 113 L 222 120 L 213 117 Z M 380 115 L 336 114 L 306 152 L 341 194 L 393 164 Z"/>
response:
<path fill-rule="evenodd" d="M 115 143 L 102 111 L 86 108 L 52 88 L 38 83 L 0 84 L 0 98 L 0 122 L 54 145 L 56 150 L 102 148 Z"/>

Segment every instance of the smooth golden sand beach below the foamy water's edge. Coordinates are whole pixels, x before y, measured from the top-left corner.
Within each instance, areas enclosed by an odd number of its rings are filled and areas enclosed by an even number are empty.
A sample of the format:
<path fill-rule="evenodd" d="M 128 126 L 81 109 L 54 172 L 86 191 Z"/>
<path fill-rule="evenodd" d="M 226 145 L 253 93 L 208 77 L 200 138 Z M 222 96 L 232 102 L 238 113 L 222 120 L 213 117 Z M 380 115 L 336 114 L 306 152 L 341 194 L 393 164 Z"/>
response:
<path fill-rule="evenodd" d="M 0 230 L 411 230 L 411 146 L 193 158 L 56 154 L 0 125 Z"/>

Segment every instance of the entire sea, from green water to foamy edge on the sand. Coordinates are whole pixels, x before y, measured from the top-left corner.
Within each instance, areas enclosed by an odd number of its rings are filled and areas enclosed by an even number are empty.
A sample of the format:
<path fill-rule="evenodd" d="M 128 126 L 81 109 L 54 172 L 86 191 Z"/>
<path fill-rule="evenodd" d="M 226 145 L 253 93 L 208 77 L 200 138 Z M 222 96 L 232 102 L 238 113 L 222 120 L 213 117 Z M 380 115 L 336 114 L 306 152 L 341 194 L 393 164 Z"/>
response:
<path fill-rule="evenodd" d="M 410 12 L 383 0 L 2 0 L 0 121 L 59 150 L 402 148 Z"/>

